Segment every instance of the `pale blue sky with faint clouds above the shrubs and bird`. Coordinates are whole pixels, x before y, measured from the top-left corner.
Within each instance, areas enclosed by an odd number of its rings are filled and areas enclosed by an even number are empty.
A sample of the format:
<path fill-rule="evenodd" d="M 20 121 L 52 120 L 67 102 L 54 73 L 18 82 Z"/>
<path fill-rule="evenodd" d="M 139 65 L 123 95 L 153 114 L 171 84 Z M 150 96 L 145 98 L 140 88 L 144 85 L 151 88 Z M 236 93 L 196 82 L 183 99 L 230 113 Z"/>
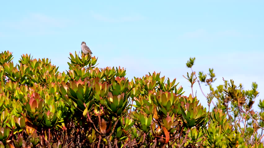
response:
<path fill-rule="evenodd" d="M 222 84 L 222 77 L 245 89 L 257 82 L 257 102 L 263 99 L 263 1 L 14 3 L 0 5 L 0 49 L 13 52 L 15 63 L 28 53 L 51 59 L 62 72 L 68 69 L 69 52 L 80 51 L 84 41 L 99 57 L 99 67 L 124 67 L 130 79 L 161 72 L 176 78 L 189 95 L 182 75 L 190 72 L 189 57 L 196 57 L 196 72 L 214 68 L 218 80 L 213 86 Z M 194 89 L 207 106 L 198 84 Z"/>

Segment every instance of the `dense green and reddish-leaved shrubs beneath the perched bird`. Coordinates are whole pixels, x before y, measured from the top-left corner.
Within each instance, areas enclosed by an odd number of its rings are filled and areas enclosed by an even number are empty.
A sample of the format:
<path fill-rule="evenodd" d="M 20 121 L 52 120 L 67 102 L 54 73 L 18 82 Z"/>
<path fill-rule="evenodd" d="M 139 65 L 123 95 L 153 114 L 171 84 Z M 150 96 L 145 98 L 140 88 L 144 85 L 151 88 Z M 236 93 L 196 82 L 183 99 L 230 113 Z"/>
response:
<path fill-rule="evenodd" d="M 95 57 L 69 59 L 60 73 L 48 59 L 22 55 L 14 64 L 11 52 L 0 54 L 0 147 L 263 147 L 256 83 L 247 91 L 232 80 L 213 88 L 213 69 L 208 79 L 187 74 L 191 87 L 209 85 L 209 108 L 217 98 L 208 112 L 176 79 L 154 72 L 129 81 L 124 68 L 97 68 Z"/>

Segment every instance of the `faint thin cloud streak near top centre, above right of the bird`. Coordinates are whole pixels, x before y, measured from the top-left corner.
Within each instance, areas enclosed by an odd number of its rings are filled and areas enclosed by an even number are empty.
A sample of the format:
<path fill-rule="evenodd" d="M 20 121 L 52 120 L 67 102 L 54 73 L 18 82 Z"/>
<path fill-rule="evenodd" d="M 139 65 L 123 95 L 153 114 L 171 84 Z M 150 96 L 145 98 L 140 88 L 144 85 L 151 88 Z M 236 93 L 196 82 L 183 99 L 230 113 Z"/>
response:
<path fill-rule="evenodd" d="M 90 13 L 94 19 L 108 23 L 135 22 L 144 19 L 144 17 L 140 14 L 126 15 L 123 17 L 108 17 L 102 14 L 95 13 L 94 11 L 91 11 Z"/>

